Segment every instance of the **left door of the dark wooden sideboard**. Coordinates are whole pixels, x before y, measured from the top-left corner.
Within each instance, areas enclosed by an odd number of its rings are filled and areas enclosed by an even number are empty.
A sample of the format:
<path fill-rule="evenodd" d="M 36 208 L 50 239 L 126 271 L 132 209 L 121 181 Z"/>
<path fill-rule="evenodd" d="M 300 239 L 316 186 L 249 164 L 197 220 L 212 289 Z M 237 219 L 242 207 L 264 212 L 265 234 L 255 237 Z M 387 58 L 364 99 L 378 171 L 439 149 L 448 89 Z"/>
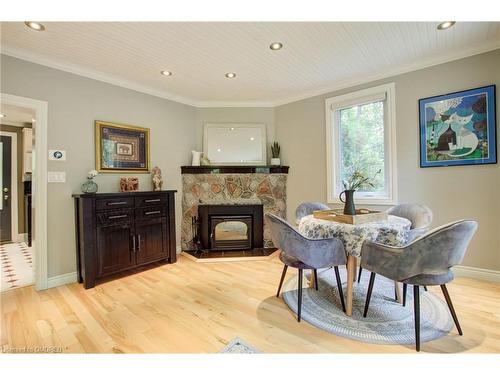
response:
<path fill-rule="evenodd" d="M 134 232 L 131 223 L 97 228 L 98 276 L 105 276 L 135 265 Z"/>

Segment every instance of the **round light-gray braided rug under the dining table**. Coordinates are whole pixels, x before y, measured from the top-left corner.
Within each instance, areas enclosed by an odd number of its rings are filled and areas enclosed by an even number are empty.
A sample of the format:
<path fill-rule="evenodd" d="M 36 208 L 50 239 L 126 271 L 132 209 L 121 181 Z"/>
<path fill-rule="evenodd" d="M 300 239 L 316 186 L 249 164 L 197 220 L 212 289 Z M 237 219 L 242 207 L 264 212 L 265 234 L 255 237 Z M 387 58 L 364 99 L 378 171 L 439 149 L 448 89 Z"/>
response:
<path fill-rule="evenodd" d="M 308 273 L 306 271 L 306 273 Z M 340 268 L 344 297 L 347 292 L 347 274 Z M 302 292 L 302 320 L 338 336 L 375 344 L 415 343 L 413 322 L 413 287 L 408 285 L 406 306 L 394 300 L 394 282 L 377 275 L 373 286 L 368 315 L 363 310 L 370 272 L 363 270 L 361 282 L 354 283 L 353 312 L 348 317 L 342 305 L 333 268 L 318 270 L 319 291 L 309 288 L 304 280 Z M 297 276 L 283 288 L 285 303 L 297 314 Z M 435 340 L 453 327 L 446 303 L 431 291 L 420 289 L 420 340 Z"/>

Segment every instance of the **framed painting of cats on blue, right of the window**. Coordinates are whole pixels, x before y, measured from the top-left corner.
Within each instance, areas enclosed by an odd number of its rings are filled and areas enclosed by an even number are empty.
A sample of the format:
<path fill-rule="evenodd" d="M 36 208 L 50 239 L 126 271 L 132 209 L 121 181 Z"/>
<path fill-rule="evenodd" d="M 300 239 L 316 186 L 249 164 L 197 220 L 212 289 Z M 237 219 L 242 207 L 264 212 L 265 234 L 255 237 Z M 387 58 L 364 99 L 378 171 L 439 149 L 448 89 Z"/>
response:
<path fill-rule="evenodd" d="M 495 103 L 495 85 L 420 99 L 420 166 L 495 164 Z"/>

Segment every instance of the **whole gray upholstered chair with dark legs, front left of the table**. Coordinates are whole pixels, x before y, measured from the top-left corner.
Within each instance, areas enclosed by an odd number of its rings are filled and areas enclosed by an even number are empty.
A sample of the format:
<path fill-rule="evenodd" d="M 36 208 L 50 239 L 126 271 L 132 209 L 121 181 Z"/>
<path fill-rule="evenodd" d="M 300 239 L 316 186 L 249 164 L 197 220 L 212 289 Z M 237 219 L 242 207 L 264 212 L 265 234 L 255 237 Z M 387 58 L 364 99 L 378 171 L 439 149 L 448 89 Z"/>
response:
<path fill-rule="evenodd" d="M 282 218 L 270 213 L 267 213 L 265 217 L 271 230 L 271 238 L 274 246 L 281 250 L 280 260 L 284 264 L 276 297 L 279 297 L 288 267 L 297 268 L 299 270 L 297 320 L 300 322 L 303 270 L 309 269 L 314 272 L 315 288 L 317 290 L 318 277 L 316 270 L 318 268 L 333 267 L 339 289 L 340 302 L 342 309 L 345 311 L 344 293 L 342 291 L 342 282 L 338 268 L 339 265 L 345 265 L 347 262 L 342 242 L 338 238 L 309 239 L 300 234 Z"/>

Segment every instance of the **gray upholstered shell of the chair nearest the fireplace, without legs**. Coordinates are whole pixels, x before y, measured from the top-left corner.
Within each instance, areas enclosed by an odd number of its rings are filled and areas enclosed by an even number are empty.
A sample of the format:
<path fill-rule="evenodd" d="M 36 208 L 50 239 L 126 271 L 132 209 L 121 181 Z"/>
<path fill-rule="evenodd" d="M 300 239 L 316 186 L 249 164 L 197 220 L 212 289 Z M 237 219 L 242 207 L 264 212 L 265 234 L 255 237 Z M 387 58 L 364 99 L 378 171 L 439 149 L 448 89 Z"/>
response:
<path fill-rule="evenodd" d="M 312 268 L 323 268 L 346 263 L 344 245 L 338 238 L 309 239 L 300 234 L 286 220 L 265 214 L 274 246 Z"/>

